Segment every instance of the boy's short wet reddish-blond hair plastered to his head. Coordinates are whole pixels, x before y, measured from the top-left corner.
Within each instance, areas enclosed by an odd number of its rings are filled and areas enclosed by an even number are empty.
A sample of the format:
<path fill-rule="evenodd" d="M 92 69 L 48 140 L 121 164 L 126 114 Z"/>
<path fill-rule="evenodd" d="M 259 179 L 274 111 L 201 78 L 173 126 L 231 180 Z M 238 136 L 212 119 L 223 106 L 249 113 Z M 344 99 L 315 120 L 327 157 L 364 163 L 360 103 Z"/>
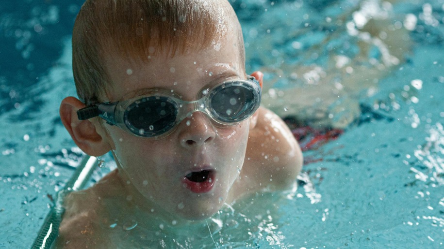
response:
<path fill-rule="evenodd" d="M 214 45 L 230 31 L 238 32 L 240 58 L 245 65 L 242 31 L 228 2 L 86 0 L 72 36 L 77 94 L 86 104 L 106 96 L 106 86 L 111 82 L 106 59 L 120 56 L 147 61 L 156 53 L 174 57 Z"/>

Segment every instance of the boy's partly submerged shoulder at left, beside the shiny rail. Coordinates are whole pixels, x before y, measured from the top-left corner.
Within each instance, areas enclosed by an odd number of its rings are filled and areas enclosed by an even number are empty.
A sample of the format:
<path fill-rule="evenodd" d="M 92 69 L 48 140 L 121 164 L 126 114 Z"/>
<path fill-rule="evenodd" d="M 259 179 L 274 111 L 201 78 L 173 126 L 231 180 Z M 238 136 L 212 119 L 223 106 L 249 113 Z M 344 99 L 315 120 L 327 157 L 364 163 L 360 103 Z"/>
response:
<path fill-rule="evenodd" d="M 65 213 L 59 227 L 55 248 L 107 248 L 102 234 L 107 224 L 104 200 L 118 188 L 116 172 L 103 177 L 93 187 L 71 192 L 64 200 Z"/>

